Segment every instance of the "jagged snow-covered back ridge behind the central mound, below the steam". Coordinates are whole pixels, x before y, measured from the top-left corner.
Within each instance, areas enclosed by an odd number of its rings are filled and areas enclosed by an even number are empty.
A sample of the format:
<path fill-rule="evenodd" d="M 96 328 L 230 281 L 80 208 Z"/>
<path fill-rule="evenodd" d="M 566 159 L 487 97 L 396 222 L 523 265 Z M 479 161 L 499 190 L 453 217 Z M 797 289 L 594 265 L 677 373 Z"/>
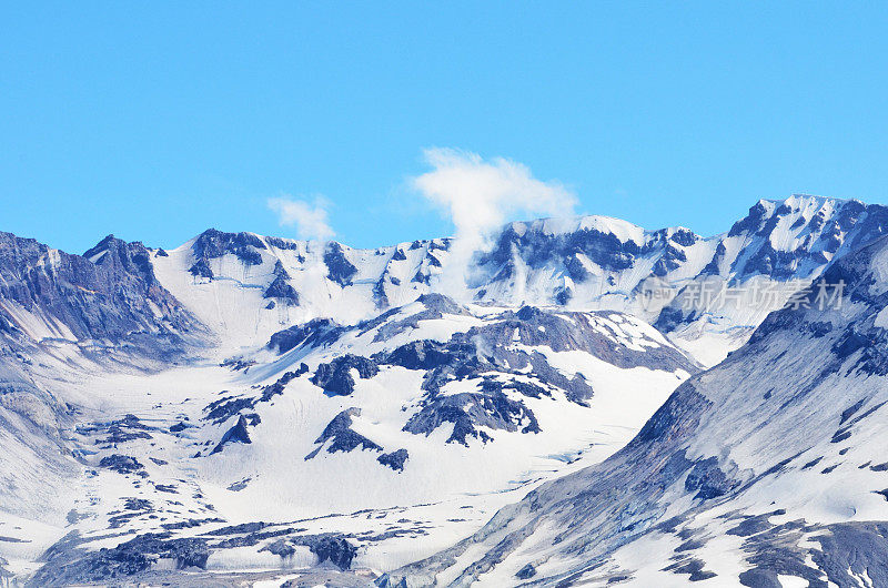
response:
<path fill-rule="evenodd" d="M 437 292 L 463 303 L 629 313 L 714 365 L 801 282 L 886 230 L 885 206 L 800 195 L 760 201 L 706 239 L 601 216 L 512 223 L 468 264 L 451 257 L 450 239 L 355 250 L 214 230 L 151 261 L 163 286 L 235 346 L 314 317 L 370 318 Z"/>

